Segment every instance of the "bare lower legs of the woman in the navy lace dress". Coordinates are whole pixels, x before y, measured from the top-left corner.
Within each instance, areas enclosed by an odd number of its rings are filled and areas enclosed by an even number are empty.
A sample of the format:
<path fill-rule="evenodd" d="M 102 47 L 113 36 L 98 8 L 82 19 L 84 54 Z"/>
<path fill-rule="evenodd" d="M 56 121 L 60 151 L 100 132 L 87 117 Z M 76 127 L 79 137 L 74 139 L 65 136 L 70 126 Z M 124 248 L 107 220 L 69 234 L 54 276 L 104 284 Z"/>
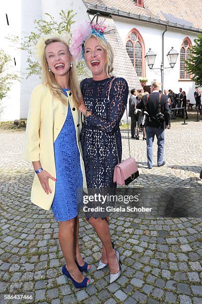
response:
<path fill-rule="evenodd" d="M 101 242 L 106 251 L 107 262 L 109 266 L 110 273 L 117 273 L 119 271 L 119 265 L 116 258 L 116 254 L 111 245 L 111 236 L 109 232 L 108 223 L 101 218 L 94 219 L 90 218 L 88 222 L 94 227 Z M 103 261 L 102 261 L 103 262 Z"/>

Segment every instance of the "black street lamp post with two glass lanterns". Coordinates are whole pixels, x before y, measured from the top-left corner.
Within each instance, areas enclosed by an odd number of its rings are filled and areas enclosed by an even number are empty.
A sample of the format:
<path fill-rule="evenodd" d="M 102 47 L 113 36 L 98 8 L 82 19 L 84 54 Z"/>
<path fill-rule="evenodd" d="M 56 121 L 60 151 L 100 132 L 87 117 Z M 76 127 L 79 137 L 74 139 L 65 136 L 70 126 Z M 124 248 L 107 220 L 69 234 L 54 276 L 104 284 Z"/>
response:
<path fill-rule="evenodd" d="M 167 54 L 168 62 L 170 65 L 170 67 L 168 67 L 168 68 L 164 68 L 163 62 L 161 63 L 160 68 L 153 68 L 153 65 L 154 65 L 154 62 L 156 59 L 156 54 L 153 51 L 151 51 L 151 49 L 149 49 L 149 51 L 147 52 L 147 54 L 145 56 L 147 65 L 150 70 L 160 70 L 161 71 L 162 92 L 163 92 L 163 85 L 164 85 L 164 69 L 173 69 L 177 62 L 178 55 L 179 55 L 178 51 L 174 50 L 172 47 L 171 50 Z"/>

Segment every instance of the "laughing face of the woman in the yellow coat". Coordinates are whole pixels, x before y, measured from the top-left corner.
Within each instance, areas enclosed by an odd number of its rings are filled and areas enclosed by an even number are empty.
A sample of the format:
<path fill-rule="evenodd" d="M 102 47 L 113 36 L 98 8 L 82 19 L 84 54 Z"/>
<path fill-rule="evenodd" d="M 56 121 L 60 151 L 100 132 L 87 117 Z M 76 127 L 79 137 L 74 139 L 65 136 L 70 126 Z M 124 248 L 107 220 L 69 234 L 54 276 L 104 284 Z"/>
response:
<path fill-rule="evenodd" d="M 70 55 L 66 45 L 52 42 L 45 49 L 46 60 L 53 74 L 64 76 L 70 70 Z"/>

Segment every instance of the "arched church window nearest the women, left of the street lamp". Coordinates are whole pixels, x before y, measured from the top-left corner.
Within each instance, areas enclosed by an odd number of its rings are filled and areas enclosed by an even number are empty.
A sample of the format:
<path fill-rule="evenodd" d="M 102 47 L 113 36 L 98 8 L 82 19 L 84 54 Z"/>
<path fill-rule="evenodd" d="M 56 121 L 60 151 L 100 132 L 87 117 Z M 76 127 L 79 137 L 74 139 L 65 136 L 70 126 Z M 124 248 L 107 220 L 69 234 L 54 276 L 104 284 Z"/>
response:
<path fill-rule="evenodd" d="M 132 62 L 132 65 L 135 68 L 137 76 L 145 76 L 144 41 L 142 39 L 142 36 L 136 29 L 132 29 L 132 31 L 127 36 L 127 42 L 125 47 L 128 56 Z"/>

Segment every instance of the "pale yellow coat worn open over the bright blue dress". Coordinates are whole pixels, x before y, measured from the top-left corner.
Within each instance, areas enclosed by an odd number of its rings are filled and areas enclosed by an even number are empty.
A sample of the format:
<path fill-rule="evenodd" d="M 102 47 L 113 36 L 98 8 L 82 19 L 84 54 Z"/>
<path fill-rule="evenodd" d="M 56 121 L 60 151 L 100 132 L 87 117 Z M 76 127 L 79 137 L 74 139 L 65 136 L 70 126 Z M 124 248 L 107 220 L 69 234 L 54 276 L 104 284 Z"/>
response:
<path fill-rule="evenodd" d="M 67 92 L 74 118 L 77 145 L 80 152 L 80 164 L 83 174 L 83 187 L 87 188 L 84 161 L 80 142 L 82 128 L 81 112 L 76 109 L 70 91 Z M 56 176 L 54 142 L 59 135 L 67 117 L 68 107 L 55 99 L 50 89 L 44 84 L 37 85 L 31 94 L 29 105 L 24 157 L 28 161 L 40 160 L 41 166 L 53 177 Z M 55 182 L 49 179 L 52 193 L 46 194 L 35 173 L 31 189 L 31 201 L 42 209 L 51 208 L 55 195 Z M 64 189 L 65 190 L 65 189 Z"/>

